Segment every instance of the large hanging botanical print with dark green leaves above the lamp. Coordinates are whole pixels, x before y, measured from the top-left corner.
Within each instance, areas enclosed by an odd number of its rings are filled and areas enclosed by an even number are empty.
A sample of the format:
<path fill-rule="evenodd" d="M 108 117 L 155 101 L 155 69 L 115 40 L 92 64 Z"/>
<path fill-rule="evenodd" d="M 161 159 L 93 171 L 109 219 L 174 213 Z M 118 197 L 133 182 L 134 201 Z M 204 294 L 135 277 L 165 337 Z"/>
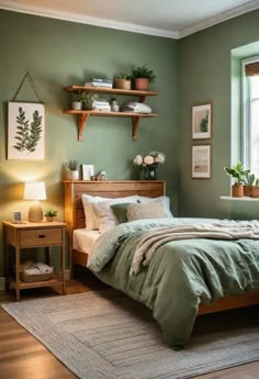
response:
<path fill-rule="evenodd" d="M 45 159 L 45 105 L 8 103 L 8 159 Z"/>

